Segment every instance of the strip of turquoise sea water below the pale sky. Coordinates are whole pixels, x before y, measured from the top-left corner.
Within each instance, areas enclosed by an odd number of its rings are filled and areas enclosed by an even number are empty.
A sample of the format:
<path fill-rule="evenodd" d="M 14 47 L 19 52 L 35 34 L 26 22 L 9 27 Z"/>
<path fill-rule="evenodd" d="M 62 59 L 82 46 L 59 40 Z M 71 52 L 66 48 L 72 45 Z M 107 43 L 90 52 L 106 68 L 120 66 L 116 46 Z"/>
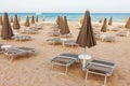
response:
<path fill-rule="evenodd" d="M 0 15 L 2 14 L 3 13 L 0 13 Z M 25 20 L 27 15 L 37 16 L 36 13 L 9 13 L 9 17 L 14 16 L 15 14 L 21 16 L 22 20 Z M 83 17 L 83 13 L 41 13 L 38 15 L 38 17 L 39 20 L 46 18 L 47 22 L 55 22 L 58 15 L 67 16 L 68 22 L 77 22 L 80 17 Z M 126 17 L 130 17 L 130 13 L 91 13 L 92 22 L 99 22 L 100 17 L 103 19 L 107 18 L 107 20 L 113 17 L 114 22 L 122 23 Z"/>

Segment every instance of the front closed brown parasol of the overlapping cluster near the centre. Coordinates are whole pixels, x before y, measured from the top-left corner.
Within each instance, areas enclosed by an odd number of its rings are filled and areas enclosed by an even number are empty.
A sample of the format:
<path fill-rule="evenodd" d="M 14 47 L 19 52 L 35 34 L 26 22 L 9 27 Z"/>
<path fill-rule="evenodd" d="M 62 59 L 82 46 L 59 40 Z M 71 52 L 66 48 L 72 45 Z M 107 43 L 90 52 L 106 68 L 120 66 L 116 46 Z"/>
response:
<path fill-rule="evenodd" d="M 67 24 L 67 18 L 66 16 L 64 16 L 64 20 L 63 20 L 63 27 L 62 29 L 60 30 L 61 34 L 67 34 L 69 33 L 69 27 L 68 27 L 68 24 Z"/>

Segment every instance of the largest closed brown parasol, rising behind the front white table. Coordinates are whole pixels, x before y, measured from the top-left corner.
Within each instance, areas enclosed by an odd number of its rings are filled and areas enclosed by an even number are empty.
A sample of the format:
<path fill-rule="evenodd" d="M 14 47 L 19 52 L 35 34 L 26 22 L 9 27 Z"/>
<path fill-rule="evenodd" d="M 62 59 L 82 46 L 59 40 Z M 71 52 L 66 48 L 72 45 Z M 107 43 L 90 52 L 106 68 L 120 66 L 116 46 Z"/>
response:
<path fill-rule="evenodd" d="M 78 34 L 76 43 L 79 44 L 79 46 L 84 48 L 84 53 L 86 53 L 86 47 L 90 48 L 96 45 L 89 11 L 86 11 L 81 30 Z"/>

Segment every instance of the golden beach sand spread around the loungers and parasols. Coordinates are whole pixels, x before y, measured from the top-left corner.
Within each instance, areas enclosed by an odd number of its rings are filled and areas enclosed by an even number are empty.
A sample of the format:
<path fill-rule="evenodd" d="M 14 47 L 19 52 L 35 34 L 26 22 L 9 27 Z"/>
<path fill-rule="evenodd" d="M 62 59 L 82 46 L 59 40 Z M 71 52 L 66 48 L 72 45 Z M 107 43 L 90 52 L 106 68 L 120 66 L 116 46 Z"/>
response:
<path fill-rule="evenodd" d="M 63 47 L 62 45 L 50 45 L 47 43 L 51 23 L 43 23 L 44 27 L 38 34 L 29 34 L 32 41 L 15 42 L 8 41 L 9 44 L 16 46 L 28 46 L 36 48 L 36 55 L 30 57 L 21 57 L 10 62 L 8 59 L 2 59 L 0 55 L 0 86 L 101 86 L 103 76 L 89 74 L 88 82 L 84 82 L 86 72 L 81 70 L 79 63 L 72 66 L 68 69 L 67 75 L 62 75 L 51 71 L 50 59 L 62 53 L 81 54 L 81 47 Z M 78 23 L 68 23 L 73 38 L 76 39 L 79 30 Z M 94 24 L 95 25 L 95 24 Z M 118 26 L 119 24 L 115 24 Z M 108 31 L 106 34 L 115 35 L 117 42 L 107 43 L 98 41 L 98 45 L 88 48 L 87 53 L 92 58 L 101 58 L 114 60 L 116 69 L 107 80 L 106 86 L 130 86 L 130 38 L 117 37 L 117 32 Z M 0 43 L 4 43 L 0 40 Z M 63 71 L 63 68 L 58 68 Z"/>

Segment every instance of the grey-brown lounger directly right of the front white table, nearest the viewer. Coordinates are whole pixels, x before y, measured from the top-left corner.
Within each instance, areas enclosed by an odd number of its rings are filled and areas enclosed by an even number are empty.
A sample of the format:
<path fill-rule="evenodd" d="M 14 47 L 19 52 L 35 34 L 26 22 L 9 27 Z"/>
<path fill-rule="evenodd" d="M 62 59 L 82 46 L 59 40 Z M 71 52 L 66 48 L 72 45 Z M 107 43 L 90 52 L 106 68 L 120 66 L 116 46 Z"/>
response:
<path fill-rule="evenodd" d="M 115 62 L 114 61 L 108 61 L 108 60 L 102 60 L 102 59 L 93 59 L 90 62 L 87 63 L 86 69 L 87 69 L 87 74 L 86 74 L 86 81 L 88 78 L 88 74 L 98 74 L 105 76 L 104 84 L 103 86 L 106 85 L 106 78 L 107 76 L 110 76 L 114 69 L 115 69 Z"/>

